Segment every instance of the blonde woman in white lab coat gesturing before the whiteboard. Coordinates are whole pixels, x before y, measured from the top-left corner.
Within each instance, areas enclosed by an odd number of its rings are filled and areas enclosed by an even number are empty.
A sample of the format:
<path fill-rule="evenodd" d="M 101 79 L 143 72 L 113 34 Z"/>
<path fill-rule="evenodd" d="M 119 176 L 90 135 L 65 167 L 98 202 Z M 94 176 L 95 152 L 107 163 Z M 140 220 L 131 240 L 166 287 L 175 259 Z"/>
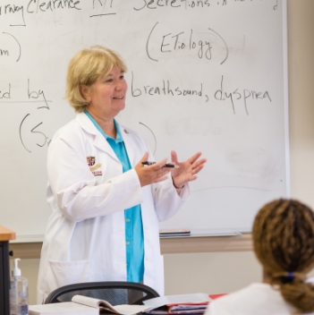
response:
<path fill-rule="evenodd" d="M 84 49 L 67 72 L 67 99 L 78 113 L 48 149 L 47 201 L 53 213 L 38 274 L 38 302 L 62 285 L 143 282 L 163 294 L 158 221 L 189 198 L 205 159 L 179 163 L 171 152 L 152 166 L 140 136 L 115 121 L 125 106 L 126 66 L 105 47 Z"/>

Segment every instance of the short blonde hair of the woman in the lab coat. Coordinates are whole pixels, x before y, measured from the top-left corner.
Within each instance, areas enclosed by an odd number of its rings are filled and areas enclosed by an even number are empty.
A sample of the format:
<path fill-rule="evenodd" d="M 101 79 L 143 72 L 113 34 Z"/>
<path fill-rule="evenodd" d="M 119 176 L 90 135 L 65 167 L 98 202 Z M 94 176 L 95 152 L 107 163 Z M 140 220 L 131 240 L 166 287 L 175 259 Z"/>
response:
<path fill-rule="evenodd" d="M 102 46 L 83 49 L 72 57 L 66 75 L 65 98 L 75 112 L 81 113 L 89 106 L 89 102 L 81 95 L 81 84 L 93 85 L 99 77 L 106 76 L 114 67 L 122 72 L 127 71 L 121 56 Z"/>

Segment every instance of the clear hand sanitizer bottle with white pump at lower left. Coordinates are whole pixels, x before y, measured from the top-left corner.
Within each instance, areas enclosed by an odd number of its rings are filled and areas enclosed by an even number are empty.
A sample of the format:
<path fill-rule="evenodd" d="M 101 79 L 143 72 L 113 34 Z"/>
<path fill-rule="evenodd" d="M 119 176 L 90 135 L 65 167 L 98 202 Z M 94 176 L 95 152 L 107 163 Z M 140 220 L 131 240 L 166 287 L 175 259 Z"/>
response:
<path fill-rule="evenodd" d="M 21 277 L 17 258 L 10 281 L 10 315 L 29 315 L 29 281 Z"/>

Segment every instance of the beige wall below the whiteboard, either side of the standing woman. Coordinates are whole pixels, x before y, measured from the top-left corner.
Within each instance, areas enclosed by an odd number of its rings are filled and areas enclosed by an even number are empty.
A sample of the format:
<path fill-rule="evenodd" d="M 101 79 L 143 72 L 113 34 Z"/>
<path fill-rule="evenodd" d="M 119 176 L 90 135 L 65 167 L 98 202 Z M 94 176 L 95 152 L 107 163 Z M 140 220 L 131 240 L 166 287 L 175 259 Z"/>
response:
<path fill-rule="evenodd" d="M 165 294 L 232 292 L 261 280 L 252 251 L 165 254 Z M 12 261 L 11 261 L 12 262 Z M 30 304 L 36 304 L 39 260 L 21 260 L 22 276 L 30 281 Z"/>

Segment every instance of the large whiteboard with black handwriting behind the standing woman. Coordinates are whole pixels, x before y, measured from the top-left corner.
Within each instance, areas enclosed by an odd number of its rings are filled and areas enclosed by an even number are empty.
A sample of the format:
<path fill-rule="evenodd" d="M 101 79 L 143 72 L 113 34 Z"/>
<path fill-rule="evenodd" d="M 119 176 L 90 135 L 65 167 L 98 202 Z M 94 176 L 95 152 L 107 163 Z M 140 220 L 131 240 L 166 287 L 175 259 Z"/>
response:
<path fill-rule="evenodd" d="M 128 65 L 119 123 L 157 160 L 208 159 L 161 228 L 249 232 L 259 207 L 290 195 L 285 1 L 7 0 L 0 26 L 0 224 L 18 240 L 45 233 L 48 144 L 75 116 L 67 64 L 92 45 Z"/>

